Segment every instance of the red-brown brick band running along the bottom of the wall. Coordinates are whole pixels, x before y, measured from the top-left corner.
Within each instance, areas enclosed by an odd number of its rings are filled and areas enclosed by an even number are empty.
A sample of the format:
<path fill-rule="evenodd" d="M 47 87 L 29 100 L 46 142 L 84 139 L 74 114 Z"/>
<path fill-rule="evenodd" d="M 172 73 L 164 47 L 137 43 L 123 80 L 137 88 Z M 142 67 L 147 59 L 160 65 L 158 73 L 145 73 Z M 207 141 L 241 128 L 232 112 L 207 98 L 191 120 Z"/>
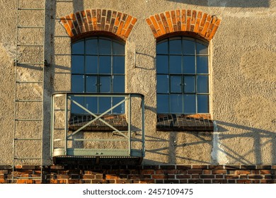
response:
<path fill-rule="evenodd" d="M 0 183 L 11 183 L 11 166 L 0 166 Z M 43 183 L 276 183 L 276 165 L 51 165 Z M 40 167 L 16 166 L 15 183 L 40 183 Z"/>

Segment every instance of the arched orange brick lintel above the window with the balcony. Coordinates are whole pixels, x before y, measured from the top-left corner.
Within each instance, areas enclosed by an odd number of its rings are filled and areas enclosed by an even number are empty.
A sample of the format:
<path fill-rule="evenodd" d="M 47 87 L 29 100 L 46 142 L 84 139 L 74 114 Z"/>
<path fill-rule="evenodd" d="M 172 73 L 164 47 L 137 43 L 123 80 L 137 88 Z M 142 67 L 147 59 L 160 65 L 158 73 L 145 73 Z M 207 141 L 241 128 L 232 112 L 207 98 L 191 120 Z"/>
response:
<path fill-rule="evenodd" d="M 105 31 L 127 40 L 137 22 L 137 18 L 118 11 L 88 9 L 64 16 L 60 22 L 69 37 L 77 37 L 83 33 Z"/>

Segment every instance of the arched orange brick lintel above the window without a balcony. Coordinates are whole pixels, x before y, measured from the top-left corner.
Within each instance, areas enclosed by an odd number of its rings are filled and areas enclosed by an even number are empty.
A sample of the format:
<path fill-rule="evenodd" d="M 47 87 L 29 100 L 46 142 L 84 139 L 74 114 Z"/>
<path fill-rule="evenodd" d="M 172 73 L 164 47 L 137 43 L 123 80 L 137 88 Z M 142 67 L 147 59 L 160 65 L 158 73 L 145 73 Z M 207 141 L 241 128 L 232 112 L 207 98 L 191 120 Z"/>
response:
<path fill-rule="evenodd" d="M 202 11 L 174 10 L 157 13 L 146 18 L 154 37 L 163 37 L 168 33 L 192 32 L 206 40 L 211 40 L 221 20 Z"/>

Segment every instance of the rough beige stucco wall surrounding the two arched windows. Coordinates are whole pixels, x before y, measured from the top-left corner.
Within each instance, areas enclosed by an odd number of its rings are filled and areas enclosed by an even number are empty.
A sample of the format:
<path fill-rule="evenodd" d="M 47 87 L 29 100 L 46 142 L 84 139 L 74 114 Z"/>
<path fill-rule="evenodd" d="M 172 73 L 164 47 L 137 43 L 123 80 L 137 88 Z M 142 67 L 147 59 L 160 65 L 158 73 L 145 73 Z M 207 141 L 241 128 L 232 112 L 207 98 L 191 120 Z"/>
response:
<path fill-rule="evenodd" d="M 11 164 L 16 4 L 5 0 L 0 0 L 0 4 L 3 8 L 0 13 L 0 164 Z M 144 163 L 276 163 L 276 1 L 84 0 L 47 4 L 46 59 L 50 68 L 45 69 L 45 164 L 52 163 L 50 95 L 70 91 L 71 39 L 59 18 L 88 8 L 120 11 L 137 18 L 125 45 L 125 88 L 126 92 L 145 95 Z M 222 20 L 209 42 L 210 113 L 216 120 L 214 133 L 156 132 L 156 40 L 145 19 L 175 9 L 203 11 Z M 34 13 L 30 17 L 30 23 L 34 23 L 35 16 Z M 39 37 L 24 36 L 33 42 Z M 134 52 L 141 53 L 137 54 L 136 67 Z M 25 78 L 38 77 L 23 69 L 21 74 Z"/>

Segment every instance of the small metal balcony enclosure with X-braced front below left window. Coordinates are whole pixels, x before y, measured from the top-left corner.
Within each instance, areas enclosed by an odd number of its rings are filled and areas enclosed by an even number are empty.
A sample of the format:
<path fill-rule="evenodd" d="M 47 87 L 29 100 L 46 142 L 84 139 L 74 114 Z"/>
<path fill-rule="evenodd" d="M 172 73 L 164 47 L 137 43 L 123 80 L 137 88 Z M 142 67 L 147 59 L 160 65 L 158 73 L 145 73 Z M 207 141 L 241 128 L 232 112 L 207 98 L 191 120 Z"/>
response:
<path fill-rule="evenodd" d="M 54 158 L 143 158 L 144 95 L 54 93 L 51 153 Z"/>

